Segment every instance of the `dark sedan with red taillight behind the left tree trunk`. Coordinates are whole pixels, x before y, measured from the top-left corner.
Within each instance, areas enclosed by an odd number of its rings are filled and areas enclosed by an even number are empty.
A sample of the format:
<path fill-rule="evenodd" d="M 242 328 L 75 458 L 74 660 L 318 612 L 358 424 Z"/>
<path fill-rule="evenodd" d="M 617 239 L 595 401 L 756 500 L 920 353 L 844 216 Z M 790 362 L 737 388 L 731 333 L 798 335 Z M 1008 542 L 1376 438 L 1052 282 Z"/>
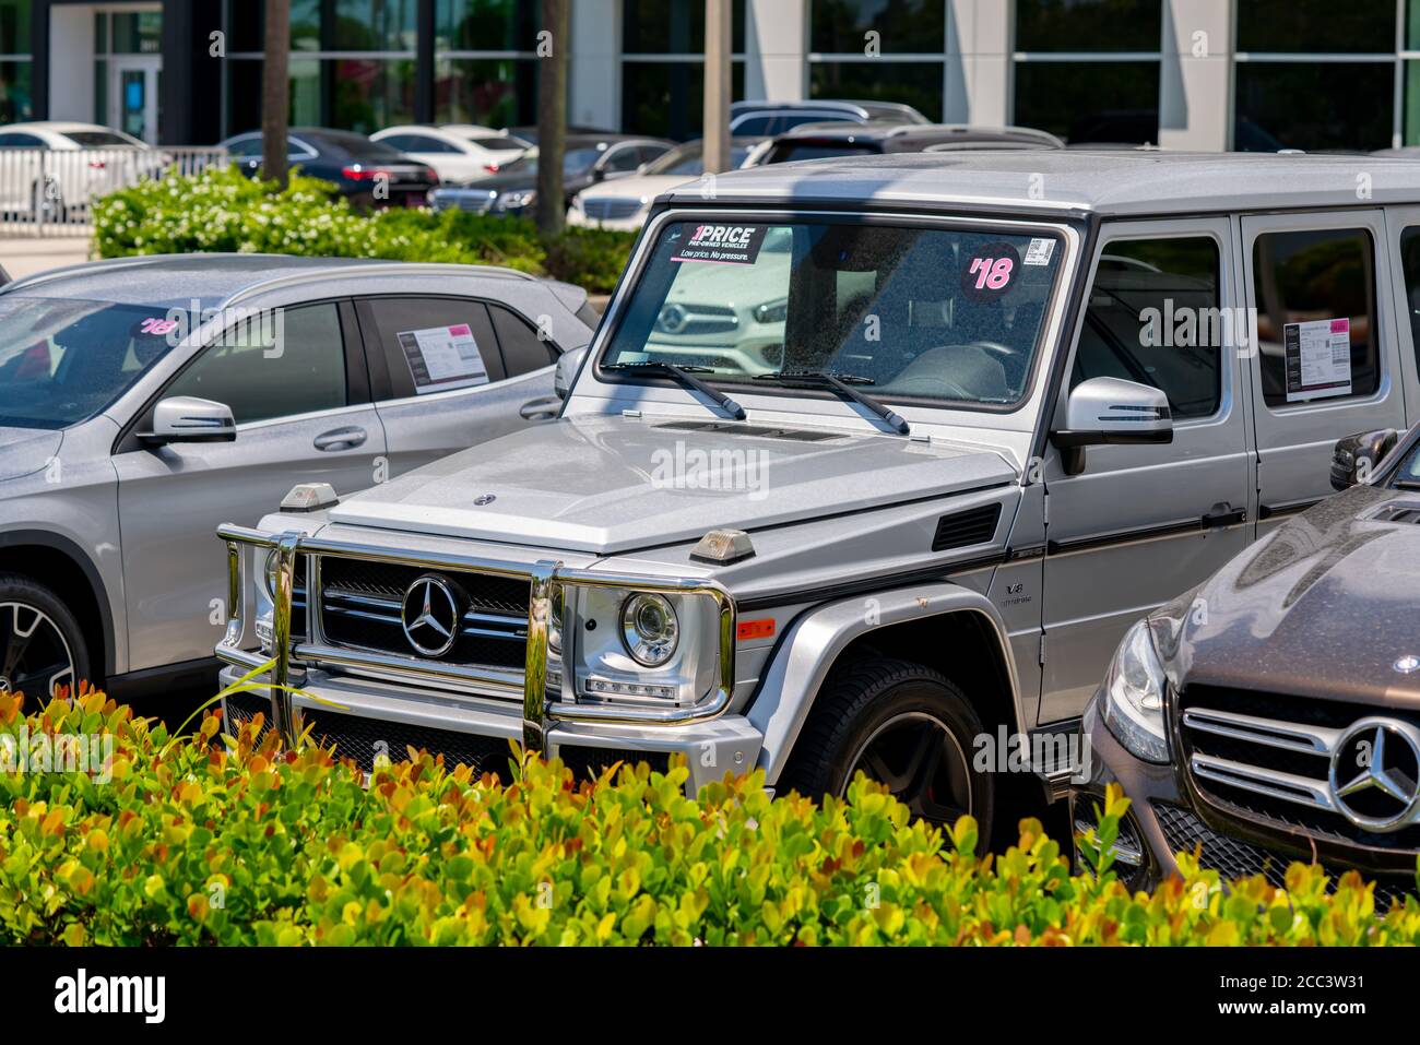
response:
<path fill-rule="evenodd" d="M 294 126 L 285 141 L 293 170 L 334 182 L 356 207 L 419 207 L 439 185 L 433 168 L 352 131 Z M 229 138 L 222 146 L 248 176 L 261 169 L 260 131 Z"/>

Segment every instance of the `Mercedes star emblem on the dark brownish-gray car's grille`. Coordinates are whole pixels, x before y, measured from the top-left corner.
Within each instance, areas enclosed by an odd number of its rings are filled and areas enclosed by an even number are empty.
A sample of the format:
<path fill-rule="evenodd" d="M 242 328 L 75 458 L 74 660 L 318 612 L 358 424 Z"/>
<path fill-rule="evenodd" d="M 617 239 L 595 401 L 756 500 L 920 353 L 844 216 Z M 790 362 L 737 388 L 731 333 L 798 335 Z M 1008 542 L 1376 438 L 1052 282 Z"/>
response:
<path fill-rule="evenodd" d="M 1420 730 L 1396 718 L 1362 718 L 1332 751 L 1332 801 L 1358 828 L 1386 832 L 1420 806 Z"/>

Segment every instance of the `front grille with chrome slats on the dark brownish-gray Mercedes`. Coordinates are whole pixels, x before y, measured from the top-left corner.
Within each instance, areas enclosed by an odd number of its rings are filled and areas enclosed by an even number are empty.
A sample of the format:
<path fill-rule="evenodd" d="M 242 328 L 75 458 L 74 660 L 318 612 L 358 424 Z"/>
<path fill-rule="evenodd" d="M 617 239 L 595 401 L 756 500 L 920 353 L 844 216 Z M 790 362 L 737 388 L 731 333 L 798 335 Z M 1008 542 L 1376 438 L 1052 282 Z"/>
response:
<path fill-rule="evenodd" d="M 1410 740 L 1420 738 L 1420 716 L 1213 686 L 1184 690 L 1179 710 L 1189 774 L 1225 812 L 1326 841 L 1420 849 L 1420 764 Z M 1392 737 L 1377 768 L 1389 771 L 1394 794 L 1366 778 L 1362 755 L 1377 724 Z"/>

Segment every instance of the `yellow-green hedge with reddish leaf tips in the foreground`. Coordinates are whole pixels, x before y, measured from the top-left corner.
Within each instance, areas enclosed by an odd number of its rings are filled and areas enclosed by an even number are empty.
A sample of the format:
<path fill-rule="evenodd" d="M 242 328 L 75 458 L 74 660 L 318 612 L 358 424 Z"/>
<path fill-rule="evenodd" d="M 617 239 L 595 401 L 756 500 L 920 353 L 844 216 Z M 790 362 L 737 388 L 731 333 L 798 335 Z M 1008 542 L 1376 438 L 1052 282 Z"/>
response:
<path fill-rule="evenodd" d="M 1333 894 L 1294 865 L 1223 889 L 1186 876 L 1132 896 L 1102 860 L 1072 875 L 1037 821 L 974 855 L 859 778 L 846 799 L 765 797 L 758 774 L 684 797 L 683 765 L 574 784 L 427 755 L 376 771 L 247 726 L 169 737 L 87 693 L 0 734 L 111 734 L 112 779 L 0 774 L 0 940 L 97 944 L 1414 944 L 1420 900 L 1382 919 L 1355 873 Z M 0 735 L 3 740 L 3 735 Z M 1112 795 L 1099 843 L 1126 801 Z"/>

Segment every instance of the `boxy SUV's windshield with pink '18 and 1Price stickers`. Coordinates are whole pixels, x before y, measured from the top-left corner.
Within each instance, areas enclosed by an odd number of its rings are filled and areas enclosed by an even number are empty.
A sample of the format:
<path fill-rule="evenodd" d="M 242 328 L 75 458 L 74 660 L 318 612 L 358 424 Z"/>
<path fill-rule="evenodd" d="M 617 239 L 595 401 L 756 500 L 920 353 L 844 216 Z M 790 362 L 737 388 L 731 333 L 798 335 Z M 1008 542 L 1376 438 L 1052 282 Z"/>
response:
<path fill-rule="evenodd" d="M 829 371 L 879 399 L 1007 406 L 1030 383 L 1062 254 L 1055 233 L 677 221 L 602 365 L 734 383 Z"/>

